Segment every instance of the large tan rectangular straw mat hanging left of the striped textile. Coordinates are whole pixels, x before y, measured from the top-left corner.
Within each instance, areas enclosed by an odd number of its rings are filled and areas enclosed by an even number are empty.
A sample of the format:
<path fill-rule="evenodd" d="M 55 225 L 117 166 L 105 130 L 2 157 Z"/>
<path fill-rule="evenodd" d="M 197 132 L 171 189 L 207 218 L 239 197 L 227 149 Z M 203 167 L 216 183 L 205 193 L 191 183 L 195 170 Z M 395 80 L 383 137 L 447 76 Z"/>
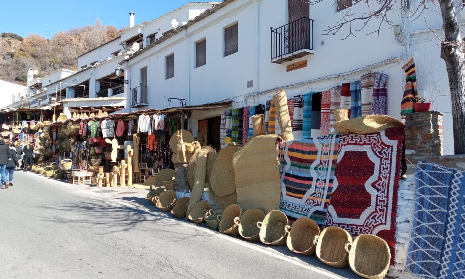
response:
<path fill-rule="evenodd" d="M 237 204 L 243 211 L 257 208 L 268 213 L 279 210 L 281 193 L 277 134 L 252 138 L 234 154 Z"/>

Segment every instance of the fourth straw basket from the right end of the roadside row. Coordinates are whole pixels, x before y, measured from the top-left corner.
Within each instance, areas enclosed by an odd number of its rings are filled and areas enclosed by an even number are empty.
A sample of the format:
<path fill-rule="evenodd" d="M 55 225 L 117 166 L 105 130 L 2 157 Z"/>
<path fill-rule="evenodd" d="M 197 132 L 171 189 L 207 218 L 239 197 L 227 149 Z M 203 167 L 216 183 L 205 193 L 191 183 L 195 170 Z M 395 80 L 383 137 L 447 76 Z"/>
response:
<path fill-rule="evenodd" d="M 285 245 L 287 216 L 279 210 L 272 210 L 266 214 L 263 222 L 257 222 L 260 228 L 260 241 L 268 245 Z"/>

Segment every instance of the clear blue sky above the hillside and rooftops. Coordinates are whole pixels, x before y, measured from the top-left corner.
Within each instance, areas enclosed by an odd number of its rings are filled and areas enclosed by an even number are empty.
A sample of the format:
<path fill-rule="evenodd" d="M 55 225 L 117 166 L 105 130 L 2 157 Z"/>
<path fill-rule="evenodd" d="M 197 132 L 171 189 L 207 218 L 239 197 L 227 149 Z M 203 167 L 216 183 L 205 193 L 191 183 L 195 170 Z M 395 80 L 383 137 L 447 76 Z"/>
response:
<path fill-rule="evenodd" d="M 0 33 L 27 36 L 36 33 L 51 38 L 58 31 L 92 25 L 98 18 L 104 25 L 120 29 L 129 25 L 129 12 L 135 23 L 150 21 L 191 0 L 0 0 Z M 201 2 L 201 1 L 193 1 Z"/>

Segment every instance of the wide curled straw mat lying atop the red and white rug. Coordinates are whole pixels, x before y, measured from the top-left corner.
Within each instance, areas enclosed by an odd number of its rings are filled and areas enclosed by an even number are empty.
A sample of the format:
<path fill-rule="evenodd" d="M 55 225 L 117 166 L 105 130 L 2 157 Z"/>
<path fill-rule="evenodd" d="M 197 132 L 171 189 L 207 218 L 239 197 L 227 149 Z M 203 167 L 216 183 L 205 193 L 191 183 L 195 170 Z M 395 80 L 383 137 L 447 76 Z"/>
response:
<path fill-rule="evenodd" d="M 372 114 L 343 120 L 331 126 L 338 128 L 338 131 L 343 133 L 367 134 L 376 133 L 387 128 L 404 126 L 404 123 L 391 116 Z"/>

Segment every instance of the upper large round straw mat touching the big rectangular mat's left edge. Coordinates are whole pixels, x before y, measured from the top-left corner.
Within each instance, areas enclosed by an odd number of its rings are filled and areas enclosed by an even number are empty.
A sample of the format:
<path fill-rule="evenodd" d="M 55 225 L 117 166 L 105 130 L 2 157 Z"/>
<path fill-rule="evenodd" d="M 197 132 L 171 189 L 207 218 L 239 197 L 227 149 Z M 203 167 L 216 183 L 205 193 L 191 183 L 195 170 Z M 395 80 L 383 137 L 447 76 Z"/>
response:
<path fill-rule="evenodd" d="M 230 195 L 236 191 L 234 183 L 233 156 L 238 146 L 227 146 L 218 153 L 210 175 L 210 186 L 218 197 Z"/>

